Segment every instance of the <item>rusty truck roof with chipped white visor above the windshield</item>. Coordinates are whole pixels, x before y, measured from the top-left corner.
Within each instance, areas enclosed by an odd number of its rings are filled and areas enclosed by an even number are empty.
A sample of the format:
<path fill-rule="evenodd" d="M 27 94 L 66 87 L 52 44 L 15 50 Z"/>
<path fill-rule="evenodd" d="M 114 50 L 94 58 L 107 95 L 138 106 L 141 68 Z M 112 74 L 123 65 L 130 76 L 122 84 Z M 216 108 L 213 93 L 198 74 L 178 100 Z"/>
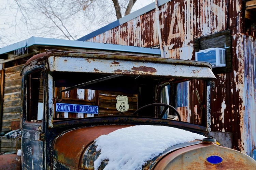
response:
<path fill-rule="evenodd" d="M 146 55 L 50 51 L 33 56 L 26 65 L 37 60 L 47 60 L 50 71 L 215 79 L 210 63 Z"/>

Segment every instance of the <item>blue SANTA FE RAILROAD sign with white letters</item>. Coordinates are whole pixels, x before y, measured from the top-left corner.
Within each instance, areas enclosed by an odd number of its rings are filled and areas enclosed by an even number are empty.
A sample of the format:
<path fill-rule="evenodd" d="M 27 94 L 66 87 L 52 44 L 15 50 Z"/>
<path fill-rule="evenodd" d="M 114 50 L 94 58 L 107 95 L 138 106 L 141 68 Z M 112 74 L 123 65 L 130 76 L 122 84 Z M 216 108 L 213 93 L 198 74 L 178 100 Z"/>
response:
<path fill-rule="evenodd" d="M 89 106 L 82 104 L 56 103 L 56 112 L 72 112 L 72 113 L 90 113 L 98 114 L 98 106 Z"/>

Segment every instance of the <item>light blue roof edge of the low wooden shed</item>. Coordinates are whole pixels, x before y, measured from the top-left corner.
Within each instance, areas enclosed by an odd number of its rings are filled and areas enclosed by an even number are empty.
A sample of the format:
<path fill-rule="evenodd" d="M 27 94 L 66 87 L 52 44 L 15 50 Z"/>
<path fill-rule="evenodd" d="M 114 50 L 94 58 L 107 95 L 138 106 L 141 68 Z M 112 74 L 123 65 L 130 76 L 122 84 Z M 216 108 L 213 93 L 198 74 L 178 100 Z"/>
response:
<path fill-rule="evenodd" d="M 160 55 L 160 49 L 123 46 L 123 45 L 115 45 L 115 44 L 92 43 L 92 42 L 74 41 L 74 40 L 65 40 L 65 39 L 40 38 L 40 37 L 30 37 L 18 43 L 0 48 L 0 55 L 20 49 L 20 48 L 28 48 L 33 45 L 63 46 L 63 47 L 112 50 L 112 51 Z"/>

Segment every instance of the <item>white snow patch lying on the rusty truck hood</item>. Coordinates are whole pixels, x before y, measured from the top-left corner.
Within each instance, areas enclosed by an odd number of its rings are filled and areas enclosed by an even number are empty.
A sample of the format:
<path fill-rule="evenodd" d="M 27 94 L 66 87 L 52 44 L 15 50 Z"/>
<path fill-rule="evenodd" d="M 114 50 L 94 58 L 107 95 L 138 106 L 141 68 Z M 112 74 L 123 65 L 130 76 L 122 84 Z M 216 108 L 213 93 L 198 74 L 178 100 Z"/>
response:
<path fill-rule="evenodd" d="M 168 126 L 138 125 L 118 129 L 95 140 L 100 156 L 94 162 L 94 169 L 97 170 L 103 160 L 109 160 L 104 170 L 140 170 L 168 147 L 203 138 Z"/>

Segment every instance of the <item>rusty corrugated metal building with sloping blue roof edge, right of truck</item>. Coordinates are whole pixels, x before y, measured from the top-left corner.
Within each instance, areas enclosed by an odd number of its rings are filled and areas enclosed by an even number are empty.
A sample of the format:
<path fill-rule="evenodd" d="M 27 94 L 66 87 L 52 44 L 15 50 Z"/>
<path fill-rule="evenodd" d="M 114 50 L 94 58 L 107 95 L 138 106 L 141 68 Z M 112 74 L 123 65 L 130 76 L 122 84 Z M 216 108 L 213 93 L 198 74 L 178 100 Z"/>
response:
<path fill-rule="evenodd" d="M 159 13 L 152 3 L 78 40 L 159 47 L 161 37 L 165 57 L 185 60 L 199 50 L 225 49 L 226 66 L 213 68 L 211 131 L 256 159 L 255 9 L 255 0 L 158 0 Z"/>

